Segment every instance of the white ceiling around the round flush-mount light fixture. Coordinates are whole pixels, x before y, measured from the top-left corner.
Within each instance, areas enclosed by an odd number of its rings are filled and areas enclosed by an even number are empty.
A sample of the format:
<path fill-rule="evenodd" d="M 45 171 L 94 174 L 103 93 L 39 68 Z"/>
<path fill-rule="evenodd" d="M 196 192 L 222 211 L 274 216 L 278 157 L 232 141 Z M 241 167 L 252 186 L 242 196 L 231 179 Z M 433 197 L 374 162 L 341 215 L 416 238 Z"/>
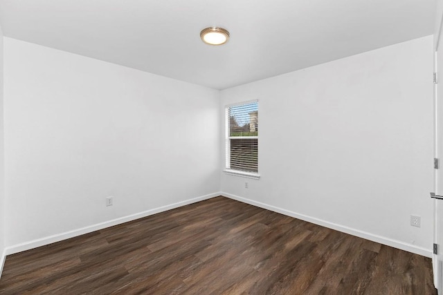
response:
<path fill-rule="evenodd" d="M 435 0 L 0 0 L 4 35 L 224 89 L 433 33 Z M 230 31 L 203 44 L 207 26 Z"/>

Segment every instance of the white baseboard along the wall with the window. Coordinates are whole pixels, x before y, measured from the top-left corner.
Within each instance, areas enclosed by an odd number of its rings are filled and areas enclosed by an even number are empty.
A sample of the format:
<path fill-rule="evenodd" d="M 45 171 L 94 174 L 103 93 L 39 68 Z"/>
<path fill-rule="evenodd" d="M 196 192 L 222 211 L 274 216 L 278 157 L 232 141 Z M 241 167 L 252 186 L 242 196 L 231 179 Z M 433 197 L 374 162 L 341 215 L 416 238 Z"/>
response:
<path fill-rule="evenodd" d="M 264 204 L 262 202 L 257 202 L 257 201 L 254 201 L 254 200 L 242 198 L 242 197 L 239 197 L 239 196 L 232 195 L 230 193 L 220 192 L 220 195 L 221 196 L 225 196 L 226 198 L 237 200 L 239 202 L 244 202 L 246 204 L 251 204 L 251 205 L 256 206 L 256 207 L 260 207 L 260 208 L 271 210 L 271 211 L 274 211 L 274 212 L 277 212 L 277 213 L 281 213 L 281 214 L 284 214 L 286 216 L 291 216 L 293 218 L 305 220 L 307 222 L 311 222 L 311 223 L 314 223 L 316 225 L 321 225 L 322 227 L 327 227 L 329 229 L 335 229 L 335 230 L 341 231 L 341 232 L 343 232 L 345 234 L 350 234 L 352 236 L 358 236 L 359 238 L 364 238 L 366 240 L 372 240 L 374 242 L 379 242 L 379 243 L 381 243 L 383 245 L 388 245 L 390 247 L 394 247 L 394 248 L 401 249 L 401 250 L 404 250 L 404 251 L 408 251 L 408 252 L 411 252 L 411 253 L 419 254 L 419 255 L 422 255 L 422 256 L 425 256 L 425 257 L 429 257 L 429 258 L 432 257 L 432 253 L 433 252 L 432 252 L 431 249 L 426 249 L 426 248 L 423 248 L 423 247 L 417 247 L 416 245 L 413 245 L 413 244 L 408 244 L 406 242 L 401 242 L 400 240 L 394 240 L 392 238 L 386 238 L 386 237 L 379 236 L 379 235 L 376 235 L 376 234 L 371 234 L 371 233 L 368 233 L 366 231 L 361 231 L 359 229 L 353 229 L 352 227 L 346 227 L 344 225 L 337 225 L 336 223 L 333 223 L 333 222 L 329 222 L 329 221 L 322 220 L 322 219 L 319 219 L 319 218 L 307 216 L 305 214 L 296 213 L 296 212 L 289 211 L 289 210 L 286 210 L 286 209 L 282 209 L 282 208 L 279 208 L 279 207 L 275 207 L 275 206 L 272 206 L 272 205 L 269 205 L 269 204 Z"/>

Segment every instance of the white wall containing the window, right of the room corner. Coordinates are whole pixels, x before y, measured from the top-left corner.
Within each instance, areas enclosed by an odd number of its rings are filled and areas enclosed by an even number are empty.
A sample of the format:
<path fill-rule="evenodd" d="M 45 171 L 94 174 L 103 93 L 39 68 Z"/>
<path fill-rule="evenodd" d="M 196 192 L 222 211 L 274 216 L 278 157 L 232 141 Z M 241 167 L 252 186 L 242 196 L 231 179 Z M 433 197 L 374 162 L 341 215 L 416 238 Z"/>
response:
<path fill-rule="evenodd" d="M 430 256 L 432 48 L 424 37 L 222 91 L 221 106 L 259 99 L 262 178 L 221 173 L 221 191 Z"/>

